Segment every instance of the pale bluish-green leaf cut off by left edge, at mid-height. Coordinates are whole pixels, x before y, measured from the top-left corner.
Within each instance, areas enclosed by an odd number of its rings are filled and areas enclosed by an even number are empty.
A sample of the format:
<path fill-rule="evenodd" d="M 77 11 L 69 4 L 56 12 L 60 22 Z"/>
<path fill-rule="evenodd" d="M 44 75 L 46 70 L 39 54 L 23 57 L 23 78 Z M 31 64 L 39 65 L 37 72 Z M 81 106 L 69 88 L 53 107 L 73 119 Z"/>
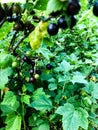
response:
<path fill-rule="evenodd" d="M 5 85 L 8 82 L 8 76 L 12 73 L 11 68 L 1 69 L 0 70 L 0 89 L 4 89 Z"/>

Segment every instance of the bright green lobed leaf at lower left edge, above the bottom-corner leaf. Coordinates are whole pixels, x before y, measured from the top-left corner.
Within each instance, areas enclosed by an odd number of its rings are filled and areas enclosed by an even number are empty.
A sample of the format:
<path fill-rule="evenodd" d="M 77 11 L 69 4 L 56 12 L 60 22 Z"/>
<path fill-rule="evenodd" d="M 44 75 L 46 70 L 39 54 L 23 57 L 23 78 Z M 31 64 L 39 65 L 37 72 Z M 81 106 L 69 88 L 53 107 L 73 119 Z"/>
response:
<path fill-rule="evenodd" d="M 19 107 L 19 102 L 13 92 L 8 91 L 4 95 L 4 99 L 1 102 L 1 110 L 4 114 L 14 112 Z"/>

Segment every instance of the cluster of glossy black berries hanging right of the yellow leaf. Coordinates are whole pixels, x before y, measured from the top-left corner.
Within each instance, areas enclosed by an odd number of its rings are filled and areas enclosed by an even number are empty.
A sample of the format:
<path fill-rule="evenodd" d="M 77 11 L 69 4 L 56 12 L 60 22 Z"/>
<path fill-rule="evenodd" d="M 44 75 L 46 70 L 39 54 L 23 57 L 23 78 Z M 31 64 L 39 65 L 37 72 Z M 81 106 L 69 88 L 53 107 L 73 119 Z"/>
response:
<path fill-rule="evenodd" d="M 65 19 L 64 16 L 61 16 L 58 20 L 57 23 L 50 23 L 47 28 L 47 32 L 49 35 L 53 36 L 58 33 L 59 28 L 61 29 L 66 29 L 70 27 L 72 29 L 76 25 L 76 18 L 74 15 L 78 14 L 80 11 L 80 3 L 78 0 L 71 0 L 69 1 L 66 14 L 68 15 L 70 21 Z M 58 12 L 59 13 L 59 12 Z M 56 13 L 52 13 L 52 15 L 56 15 Z"/>

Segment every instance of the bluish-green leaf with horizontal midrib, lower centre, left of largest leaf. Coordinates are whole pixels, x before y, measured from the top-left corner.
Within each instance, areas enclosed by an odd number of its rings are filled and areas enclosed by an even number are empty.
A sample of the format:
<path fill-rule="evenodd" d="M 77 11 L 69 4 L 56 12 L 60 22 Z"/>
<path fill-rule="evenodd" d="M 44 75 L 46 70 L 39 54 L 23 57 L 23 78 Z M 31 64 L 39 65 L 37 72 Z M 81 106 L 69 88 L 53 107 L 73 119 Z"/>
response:
<path fill-rule="evenodd" d="M 31 106 L 36 110 L 46 111 L 52 109 L 52 102 L 47 96 L 39 95 L 39 98 L 32 102 Z"/>

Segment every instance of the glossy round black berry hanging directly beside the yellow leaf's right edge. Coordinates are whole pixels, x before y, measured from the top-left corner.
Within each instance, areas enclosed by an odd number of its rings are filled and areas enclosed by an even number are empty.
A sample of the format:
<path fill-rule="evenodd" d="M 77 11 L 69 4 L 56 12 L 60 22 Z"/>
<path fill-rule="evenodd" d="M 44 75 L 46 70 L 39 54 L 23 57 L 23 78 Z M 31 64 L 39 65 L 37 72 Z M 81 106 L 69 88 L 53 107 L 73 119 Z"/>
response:
<path fill-rule="evenodd" d="M 58 25 L 56 23 L 50 23 L 47 28 L 47 32 L 50 36 L 54 36 L 58 33 Z"/>

